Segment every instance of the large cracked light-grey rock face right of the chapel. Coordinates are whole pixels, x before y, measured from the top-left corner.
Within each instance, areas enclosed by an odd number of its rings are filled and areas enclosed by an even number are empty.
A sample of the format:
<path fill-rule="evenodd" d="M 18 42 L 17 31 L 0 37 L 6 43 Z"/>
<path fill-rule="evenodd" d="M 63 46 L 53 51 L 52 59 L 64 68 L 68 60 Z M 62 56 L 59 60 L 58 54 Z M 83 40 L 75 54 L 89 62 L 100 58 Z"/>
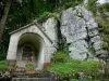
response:
<path fill-rule="evenodd" d="M 98 25 L 92 13 L 81 5 L 62 13 L 61 33 L 65 37 L 66 43 L 70 43 L 70 56 L 73 58 L 92 59 L 96 56 L 94 54 L 101 51 Z"/>

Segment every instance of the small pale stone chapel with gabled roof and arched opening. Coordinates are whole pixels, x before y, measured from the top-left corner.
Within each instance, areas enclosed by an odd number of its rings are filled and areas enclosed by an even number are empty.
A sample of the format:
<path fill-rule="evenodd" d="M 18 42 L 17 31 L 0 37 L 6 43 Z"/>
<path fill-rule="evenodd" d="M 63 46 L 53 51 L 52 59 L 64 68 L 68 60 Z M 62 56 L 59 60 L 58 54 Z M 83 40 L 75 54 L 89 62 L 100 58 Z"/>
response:
<path fill-rule="evenodd" d="M 10 35 L 7 55 L 10 65 L 25 67 L 26 62 L 33 60 L 36 69 L 43 69 L 50 63 L 51 55 L 56 50 L 55 40 L 50 39 L 37 23 L 16 29 Z"/>

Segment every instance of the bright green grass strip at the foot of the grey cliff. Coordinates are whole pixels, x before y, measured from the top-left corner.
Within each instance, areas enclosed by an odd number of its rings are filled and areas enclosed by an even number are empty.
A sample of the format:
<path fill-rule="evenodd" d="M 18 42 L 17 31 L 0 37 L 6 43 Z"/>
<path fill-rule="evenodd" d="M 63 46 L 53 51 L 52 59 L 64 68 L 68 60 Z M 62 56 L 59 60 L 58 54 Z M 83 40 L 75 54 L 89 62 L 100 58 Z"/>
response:
<path fill-rule="evenodd" d="M 58 76 L 76 75 L 77 72 L 95 76 L 100 73 L 99 67 L 100 64 L 95 60 L 72 59 L 69 63 L 52 63 L 47 70 L 53 71 Z"/>

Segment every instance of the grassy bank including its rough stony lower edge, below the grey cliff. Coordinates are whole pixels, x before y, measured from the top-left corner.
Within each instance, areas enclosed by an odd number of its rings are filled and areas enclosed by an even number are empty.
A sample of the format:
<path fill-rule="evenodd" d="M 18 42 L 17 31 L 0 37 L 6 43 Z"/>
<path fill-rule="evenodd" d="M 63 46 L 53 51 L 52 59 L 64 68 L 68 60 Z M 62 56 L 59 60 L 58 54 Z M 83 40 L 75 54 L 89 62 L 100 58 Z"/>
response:
<path fill-rule="evenodd" d="M 70 59 L 64 63 L 52 63 L 51 67 L 46 68 L 46 70 L 55 72 L 59 81 L 81 81 L 78 79 L 78 72 L 84 73 L 83 78 L 85 81 L 97 81 L 96 79 L 101 76 L 99 67 L 100 64 L 95 60 Z M 92 79 L 87 79 L 88 76 L 90 76 Z"/>

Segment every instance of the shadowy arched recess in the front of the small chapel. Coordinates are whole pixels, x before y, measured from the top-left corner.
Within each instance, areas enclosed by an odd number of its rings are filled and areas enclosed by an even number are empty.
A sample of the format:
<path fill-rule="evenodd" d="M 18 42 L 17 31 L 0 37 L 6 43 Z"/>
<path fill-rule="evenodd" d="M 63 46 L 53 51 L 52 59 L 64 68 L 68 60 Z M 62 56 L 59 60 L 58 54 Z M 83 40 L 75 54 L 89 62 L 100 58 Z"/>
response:
<path fill-rule="evenodd" d="M 16 53 L 16 66 L 25 67 L 26 62 L 33 62 L 36 68 L 43 68 L 44 63 L 43 38 L 37 33 L 26 32 L 20 37 Z"/>

